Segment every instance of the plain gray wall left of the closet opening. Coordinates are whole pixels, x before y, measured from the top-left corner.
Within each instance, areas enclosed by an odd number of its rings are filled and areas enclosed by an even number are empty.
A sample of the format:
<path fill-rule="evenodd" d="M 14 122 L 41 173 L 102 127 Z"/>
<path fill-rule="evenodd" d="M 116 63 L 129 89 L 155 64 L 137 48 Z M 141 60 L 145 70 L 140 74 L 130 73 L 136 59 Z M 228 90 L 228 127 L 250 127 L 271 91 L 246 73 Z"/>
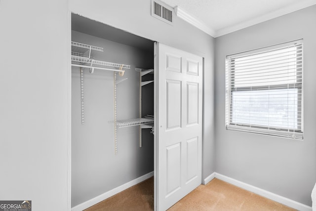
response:
<path fill-rule="evenodd" d="M 70 209 L 69 21 L 68 0 L 0 1 L 0 200 L 33 211 Z"/>

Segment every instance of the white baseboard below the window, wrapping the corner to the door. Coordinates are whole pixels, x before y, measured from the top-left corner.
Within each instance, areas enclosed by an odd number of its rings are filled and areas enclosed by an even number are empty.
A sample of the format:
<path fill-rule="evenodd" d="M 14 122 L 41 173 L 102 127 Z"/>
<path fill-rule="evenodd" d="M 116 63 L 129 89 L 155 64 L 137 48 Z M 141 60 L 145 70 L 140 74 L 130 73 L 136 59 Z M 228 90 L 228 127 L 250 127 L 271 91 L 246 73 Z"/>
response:
<path fill-rule="evenodd" d="M 296 202 L 294 200 L 285 198 L 283 196 L 279 196 L 277 194 L 274 194 L 272 192 L 263 190 L 261 188 L 249 185 L 247 183 L 238 181 L 236 179 L 233 179 L 231 177 L 225 176 L 225 175 L 217 173 L 217 172 L 214 172 L 211 175 L 209 175 L 208 177 L 206 177 L 204 179 L 204 184 L 207 184 L 213 178 L 217 178 L 217 179 L 223 180 L 225 182 L 228 182 L 230 184 L 236 185 L 237 187 L 240 187 L 240 188 L 243 188 L 243 189 L 248 190 L 250 192 L 256 193 L 256 194 L 258 194 L 260 196 L 266 197 L 268 199 L 271 199 L 273 201 L 276 201 L 276 202 L 281 203 L 283 205 L 286 205 L 288 207 L 294 208 L 296 210 L 299 210 L 299 211 L 312 211 L 312 207 L 309 207 L 309 206 L 304 205 L 302 203 L 299 203 L 299 202 Z"/>

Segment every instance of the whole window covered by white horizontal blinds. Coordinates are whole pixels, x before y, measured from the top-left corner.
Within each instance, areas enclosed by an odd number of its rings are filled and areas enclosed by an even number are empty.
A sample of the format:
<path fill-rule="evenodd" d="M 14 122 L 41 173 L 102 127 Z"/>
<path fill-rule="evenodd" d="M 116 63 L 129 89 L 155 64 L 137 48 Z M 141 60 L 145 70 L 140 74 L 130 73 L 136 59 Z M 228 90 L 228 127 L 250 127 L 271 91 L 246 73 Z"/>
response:
<path fill-rule="evenodd" d="M 303 139 L 303 40 L 226 57 L 226 128 Z"/>

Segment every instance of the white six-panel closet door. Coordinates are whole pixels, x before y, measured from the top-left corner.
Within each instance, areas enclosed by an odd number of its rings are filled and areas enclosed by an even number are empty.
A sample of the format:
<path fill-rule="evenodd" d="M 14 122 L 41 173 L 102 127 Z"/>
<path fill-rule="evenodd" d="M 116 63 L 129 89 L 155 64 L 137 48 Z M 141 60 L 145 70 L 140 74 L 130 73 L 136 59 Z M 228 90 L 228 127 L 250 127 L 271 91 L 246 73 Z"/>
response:
<path fill-rule="evenodd" d="M 155 208 L 165 211 L 201 184 L 203 60 L 161 43 L 156 52 Z"/>

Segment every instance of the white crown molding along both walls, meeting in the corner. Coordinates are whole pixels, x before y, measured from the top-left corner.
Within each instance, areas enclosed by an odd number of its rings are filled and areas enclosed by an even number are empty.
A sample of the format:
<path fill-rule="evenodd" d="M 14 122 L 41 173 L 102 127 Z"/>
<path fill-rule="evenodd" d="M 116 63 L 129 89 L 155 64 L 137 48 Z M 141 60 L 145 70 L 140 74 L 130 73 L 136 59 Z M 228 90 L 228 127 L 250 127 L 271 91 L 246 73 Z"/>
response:
<path fill-rule="evenodd" d="M 274 12 L 270 12 L 267 13 L 265 15 L 259 16 L 257 18 L 253 18 L 251 20 L 248 21 L 244 21 L 242 23 L 239 24 L 235 24 L 234 26 L 231 27 L 226 27 L 220 30 L 215 31 L 214 29 L 210 28 L 209 26 L 207 26 L 205 23 L 201 22 L 200 20 L 198 20 L 196 17 L 192 16 L 191 14 L 189 14 L 188 12 L 186 12 L 185 10 L 181 9 L 179 6 L 175 6 L 174 10 L 176 15 L 187 21 L 188 23 L 192 24 L 193 26 L 197 27 L 198 29 L 200 29 L 201 31 L 205 32 L 206 34 L 212 36 L 213 38 L 217 38 L 232 32 L 236 32 L 240 29 L 244 29 L 247 28 L 249 26 L 253 26 L 256 25 L 258 23 L 262 23 L 271 19 L 274 19 L 276 17 L 312 6 L 316 4 L 316 0 L 300 0 L 298 1 L 296 4 L 292 4 L 289 5 L 287 7 L 283 7 L 280 8 Z"/>

